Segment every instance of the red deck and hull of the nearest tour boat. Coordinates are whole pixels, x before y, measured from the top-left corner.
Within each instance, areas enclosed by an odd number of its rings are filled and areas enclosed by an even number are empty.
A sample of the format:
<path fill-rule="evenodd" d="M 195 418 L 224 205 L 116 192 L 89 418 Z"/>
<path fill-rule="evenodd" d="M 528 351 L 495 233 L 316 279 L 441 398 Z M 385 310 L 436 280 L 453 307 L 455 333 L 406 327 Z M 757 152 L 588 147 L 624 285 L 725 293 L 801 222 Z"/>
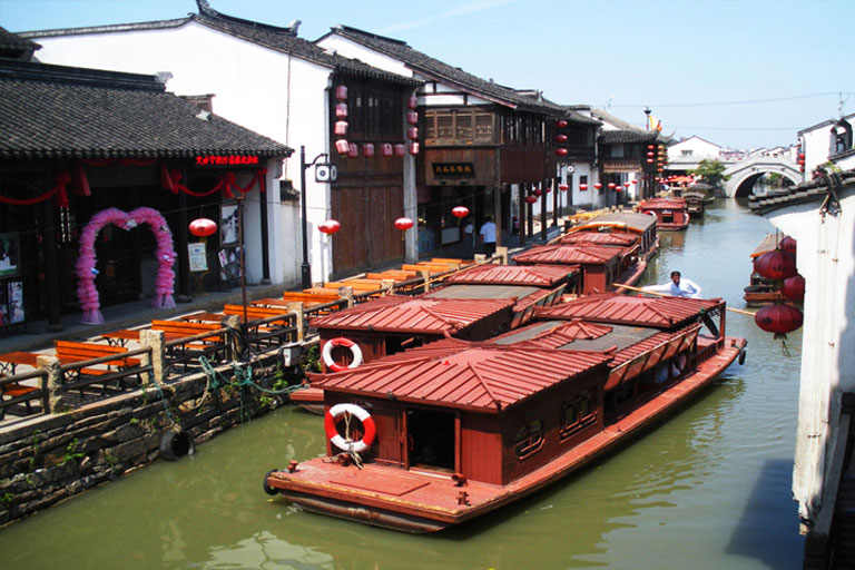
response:
<path fill-rule="evenodd" d="M 318 458 L 293 465 L 293 472 L 268 473 L 265 488 L 307 511 L 406 532 L 435 532 L 518 501 L 613 452 L 691 401 L 737 357 L 741 362 L 745 346 L 744 338 L 727 337 L 691 374 L 507 485 L 376 463 L 345 466 Z"/>

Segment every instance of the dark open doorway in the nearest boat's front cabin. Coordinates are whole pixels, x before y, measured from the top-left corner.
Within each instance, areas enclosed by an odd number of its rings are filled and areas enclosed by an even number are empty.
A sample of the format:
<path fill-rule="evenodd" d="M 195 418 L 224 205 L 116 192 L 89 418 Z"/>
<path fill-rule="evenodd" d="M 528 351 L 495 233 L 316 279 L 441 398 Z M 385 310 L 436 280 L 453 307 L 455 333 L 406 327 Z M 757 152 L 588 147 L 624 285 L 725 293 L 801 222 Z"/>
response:
<path fill-rule="evenodd" d="M 410 466 L 454 471 L 454 413 L 407 410 Z"/>

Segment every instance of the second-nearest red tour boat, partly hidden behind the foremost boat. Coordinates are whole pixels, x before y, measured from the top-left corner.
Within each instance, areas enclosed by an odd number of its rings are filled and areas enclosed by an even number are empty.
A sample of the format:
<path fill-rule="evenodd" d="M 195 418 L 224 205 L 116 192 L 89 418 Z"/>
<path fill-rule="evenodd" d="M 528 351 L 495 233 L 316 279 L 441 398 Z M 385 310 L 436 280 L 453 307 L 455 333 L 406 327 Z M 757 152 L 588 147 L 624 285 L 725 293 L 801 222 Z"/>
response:
<path fill-rule="evenodd" d="M 312 321 L 324 372 L 355 367 L 446 336 L 480 341 L 518 327 L 538 306 L 578 294 L 579 267 L 484 264 L 446 277 L 426 294 L 391 295 Z M 323 413 L 323 393 L 308 386 L 291 395 Z"/>

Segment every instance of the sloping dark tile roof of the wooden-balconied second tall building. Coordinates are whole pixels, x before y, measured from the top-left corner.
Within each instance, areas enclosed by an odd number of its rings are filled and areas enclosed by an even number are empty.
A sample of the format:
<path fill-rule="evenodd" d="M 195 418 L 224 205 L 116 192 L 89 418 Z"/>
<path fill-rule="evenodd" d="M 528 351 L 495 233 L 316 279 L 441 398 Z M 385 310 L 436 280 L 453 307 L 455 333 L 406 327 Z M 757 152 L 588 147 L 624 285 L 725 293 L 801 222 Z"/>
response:
<path fill-rule="evenodd" d="M 560 105 L 523 95 L 515 89 L 501 86 L 492 80 L 482 79 L 463 71 L 459 67 L 450 66 L 422 53 L 421 51 L 411 48 L 404 41 L 341 24 L 333 27 L 330 35 L 332 33 L 347 38 L 351 41 L 374 49 L 381 53 L 385 53 L 399 61 L 403 61 L 413 71 L 416 71 L 420 75 L 446 81 L 472 95 L 483 97 L 493 102 L 509 107 L 519 107 L 521 110 L 530 110 L 546 115 L 562 116 L 566 114 L 566 110 Z M 321 41 L 324 37 L 316 41 Z"/>

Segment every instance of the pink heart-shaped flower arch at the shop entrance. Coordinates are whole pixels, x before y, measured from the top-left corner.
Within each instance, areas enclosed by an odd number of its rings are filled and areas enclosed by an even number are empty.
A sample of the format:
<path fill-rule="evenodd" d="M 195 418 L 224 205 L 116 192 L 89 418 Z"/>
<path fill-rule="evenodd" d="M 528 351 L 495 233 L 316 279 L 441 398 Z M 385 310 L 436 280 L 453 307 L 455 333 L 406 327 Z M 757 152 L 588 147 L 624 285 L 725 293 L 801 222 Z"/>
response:
<path fill-rule="evenodd" d="M 108 224 L 121 229 L 134 229 L 140 224 L 148 224 L 155 234 L 157 243 L 157 277 L 155 278 L 155 308 L 171 308 L 175 306 L 173 293 L 175 291 L 175 248 L 173 247 L 173 233 L 169 225 L 154 208 L 141 207 L 132 212 L 122 212 L 118 208 L 107 208 L 97 213 L 80 233 L 80 255 L 77 258 L 77 298 L 83 309 L 80 320 L 83 324 L 104 323 L 98 299 L 98 289 L 95 287 L 96 269 L 95 238 Z"/>

